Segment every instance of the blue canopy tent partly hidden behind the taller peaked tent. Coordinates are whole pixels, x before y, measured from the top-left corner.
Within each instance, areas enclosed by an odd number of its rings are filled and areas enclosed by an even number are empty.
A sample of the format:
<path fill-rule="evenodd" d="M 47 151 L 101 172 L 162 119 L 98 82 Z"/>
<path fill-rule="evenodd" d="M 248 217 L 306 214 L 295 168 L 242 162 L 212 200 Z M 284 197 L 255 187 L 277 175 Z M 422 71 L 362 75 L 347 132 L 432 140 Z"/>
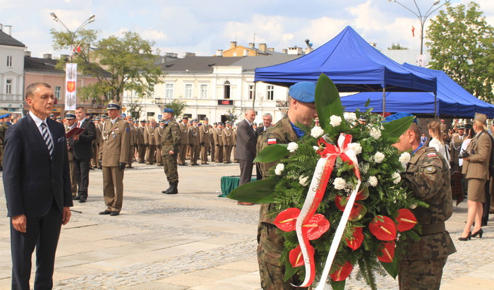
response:
<path fill-rule="evenodd" d="M 383 107 L 382 101 L 385 99 L 387 112 L 409 111 L 423 116 L 433 116 L 437 110 L 438 114 L 443 117 L 473 118 L 476 112 L 486 114 L 489 118 L 494 117 L 494 105 L 477 99 L 443 71 L 421 68 L 411 64 L 404 64 L 403 66 L 427 75 L 433 75 L 438 79 L 437 102 L 434 102 L 435 95 L 430 92 L 386 92 L 385 98 L 380 92 L 361 92 L 342 97 L 345 110 L 355 111 L 357 108 L 361 111 L 365 110 L 367 109 L 365 104 L 370 99 L 368 107 L 374 107 L 373 111 L 380 113 Z"/>

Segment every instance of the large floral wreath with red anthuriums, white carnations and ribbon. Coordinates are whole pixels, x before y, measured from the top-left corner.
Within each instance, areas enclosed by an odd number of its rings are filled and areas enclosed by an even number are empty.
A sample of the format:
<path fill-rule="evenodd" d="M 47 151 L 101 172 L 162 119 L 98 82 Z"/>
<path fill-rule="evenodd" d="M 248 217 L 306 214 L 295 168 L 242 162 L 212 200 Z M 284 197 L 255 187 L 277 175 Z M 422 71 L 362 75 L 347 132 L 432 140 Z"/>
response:
<path fill-rule="evenodd" d="M 414 117 L 386 123 L 368 109 L 347 121 L 326 75 L 316 85 L 315 107 L 319 124 L 298 124 L 306 132 L 299 142 L 267 146 L 256 157 L 255 162 L 277 162 L 270 177 L 228 197 L 275 203 L 270 215 L 284 236 L 285 280 L 298 272 L 305 279 L 296 286 L 310 286 L 317 277 L 316 289 L 326 282 L 344 289 L 359 265 L 356 278 L 376 289 L 375 273 L 396 278 L 405 243 L 419 239 L 409 209 L 427 206 L 402 186 L 409 152 L 392 146 Z"/>

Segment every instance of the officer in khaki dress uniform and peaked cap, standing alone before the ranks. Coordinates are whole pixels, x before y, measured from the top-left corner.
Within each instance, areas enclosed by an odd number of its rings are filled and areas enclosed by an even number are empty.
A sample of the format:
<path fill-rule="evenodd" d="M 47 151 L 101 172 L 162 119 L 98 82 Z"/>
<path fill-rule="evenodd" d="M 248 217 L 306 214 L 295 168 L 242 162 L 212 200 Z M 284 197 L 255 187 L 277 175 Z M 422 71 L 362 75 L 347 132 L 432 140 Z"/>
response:
<path fill-rule="evenodd" d="M 109 119 L 103 124 L 100 162 L 103 172 L 103 196 L 107 209 L 100 215 L 120 214 L 123 203 L 123 170 L 128 162 L 131 129 L 119 118 L 120 105 L 108 104 Z"/>

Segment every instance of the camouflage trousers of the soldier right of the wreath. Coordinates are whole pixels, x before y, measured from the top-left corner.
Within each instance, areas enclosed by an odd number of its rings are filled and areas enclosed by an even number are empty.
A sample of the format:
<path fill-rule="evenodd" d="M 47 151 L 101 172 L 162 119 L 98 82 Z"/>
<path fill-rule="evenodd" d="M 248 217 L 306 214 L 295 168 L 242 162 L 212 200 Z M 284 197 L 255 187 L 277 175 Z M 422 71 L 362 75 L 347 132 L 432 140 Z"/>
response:
<path fill-rule="evenodd" d="M 400 290 L 433 290 L 441 286 L 442 268 L 447 257 L 398 262 Z"/>

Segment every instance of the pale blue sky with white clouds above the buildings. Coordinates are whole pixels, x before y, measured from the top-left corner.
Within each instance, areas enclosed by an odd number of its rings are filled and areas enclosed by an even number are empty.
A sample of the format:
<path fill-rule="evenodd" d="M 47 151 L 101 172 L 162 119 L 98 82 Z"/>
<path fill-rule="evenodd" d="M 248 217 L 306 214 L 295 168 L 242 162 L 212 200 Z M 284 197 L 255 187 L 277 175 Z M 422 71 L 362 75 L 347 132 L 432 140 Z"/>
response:
<path fill-rule="evenodd" d="M 469 2 L 452 0 L 453 5 Z M 494 26 L 494 1 L 476 2 Z M 416 11 L 413 0 L 399 3 Z M 433 0 L 416 3 L 425 13 Z M 12 25 L 12 36 L 28 47 L 31 56 L 50 53 L 57 57 L 68 52 L 52 48 L 50 30 L 65 30 L 49 16 L 52 11 L 72 31 L 95 14 L 95 22 L 85 28 L 100 30 L 100 37 L 138 32 L 155 42 L 162 55 L 171 52 L 179 57 L 185 52 L 211 56 L 217 49 L 229 49 L 232 41 L 246 47 L 250 42 L 255 47 L 265 43 L 281 52 L 288 47 L 305 48 L 308 39 L 318 48 L 347 25 L 379 49 L 392 43 L 420 49 L 418 18 L 389 0 L 1 0 L 0 23 Z M 430 18 L 436 15 L 438 11 Z"/>

